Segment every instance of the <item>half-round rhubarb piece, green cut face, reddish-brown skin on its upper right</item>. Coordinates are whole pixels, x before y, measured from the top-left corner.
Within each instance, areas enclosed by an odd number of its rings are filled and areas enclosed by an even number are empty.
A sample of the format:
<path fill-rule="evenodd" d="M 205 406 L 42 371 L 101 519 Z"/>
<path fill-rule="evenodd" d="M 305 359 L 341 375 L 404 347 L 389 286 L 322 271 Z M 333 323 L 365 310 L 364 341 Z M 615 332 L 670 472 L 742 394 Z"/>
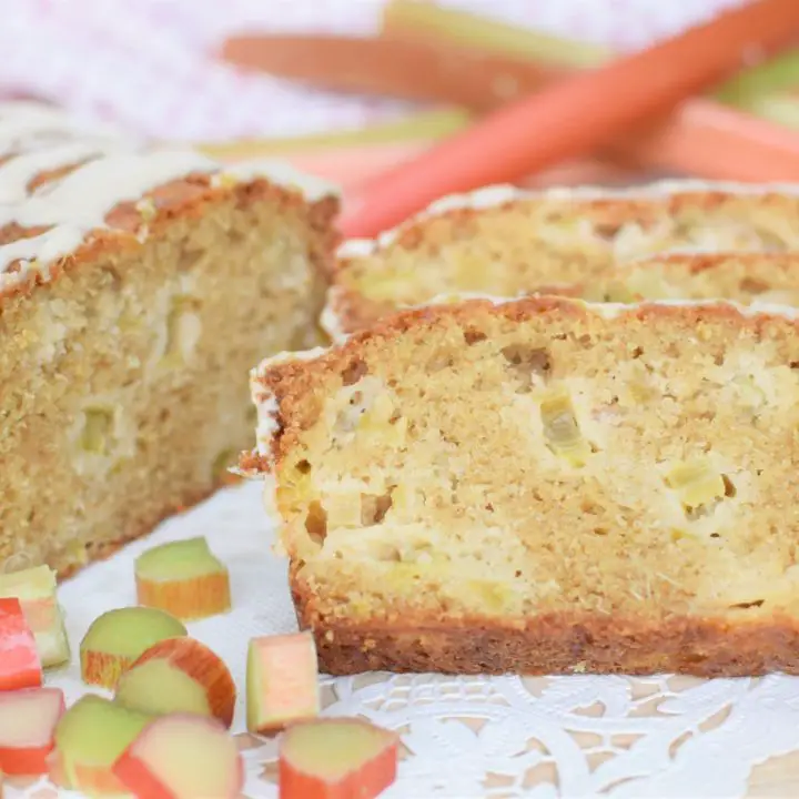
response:
<path fill-rule="evenodd" d="M 213 716 L 233 722 L 236 688 L 224 661 L 193 638 L 171 638 L 150 647 L 120 677 L 115 701 L 153 716 Z"/>

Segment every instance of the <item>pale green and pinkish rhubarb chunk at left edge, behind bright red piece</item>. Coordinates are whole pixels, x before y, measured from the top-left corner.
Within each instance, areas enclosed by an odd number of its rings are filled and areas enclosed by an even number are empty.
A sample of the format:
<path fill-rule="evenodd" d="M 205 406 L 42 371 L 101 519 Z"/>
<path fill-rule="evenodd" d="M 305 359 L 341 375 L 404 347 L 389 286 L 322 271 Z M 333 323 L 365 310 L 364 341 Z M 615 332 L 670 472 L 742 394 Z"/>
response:
<path fill-rule="evenodd" d="M 69 660 L 70 649 L 58 604 L 55 573 L 49 566 L 0 575 L 0 597 L 19 599 L 44 668 Z"/>

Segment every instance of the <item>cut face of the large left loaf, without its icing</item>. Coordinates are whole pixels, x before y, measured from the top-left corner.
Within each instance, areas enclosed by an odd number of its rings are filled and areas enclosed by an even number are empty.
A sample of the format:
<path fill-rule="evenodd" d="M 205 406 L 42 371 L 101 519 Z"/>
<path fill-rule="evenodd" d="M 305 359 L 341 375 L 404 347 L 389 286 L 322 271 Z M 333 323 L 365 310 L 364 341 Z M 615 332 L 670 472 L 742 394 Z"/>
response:
<path fill-rule="evenodd" d="M 251 435 L 247 368 L 313 341 L 335 203 L 261 182 L 195 211 L 6 297 L 0 563 L 63 576 L 208 496 Z"/>

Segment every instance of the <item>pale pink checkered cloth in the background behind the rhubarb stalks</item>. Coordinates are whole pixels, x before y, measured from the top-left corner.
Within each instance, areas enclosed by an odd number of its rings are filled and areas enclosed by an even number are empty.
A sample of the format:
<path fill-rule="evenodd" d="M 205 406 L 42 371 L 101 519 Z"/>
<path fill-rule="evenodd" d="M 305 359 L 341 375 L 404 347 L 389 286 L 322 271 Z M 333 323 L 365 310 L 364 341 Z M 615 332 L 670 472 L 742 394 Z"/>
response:
<path fill-rule="evenodd" d="M 368 36 L 385 0 L 2 0 L 0 93 L 189 141 L 358 128 L 407 110 L 240 74 L 214 57 L 232 32 Z M 439 0 L 620 50 L 742 0 Z"/>

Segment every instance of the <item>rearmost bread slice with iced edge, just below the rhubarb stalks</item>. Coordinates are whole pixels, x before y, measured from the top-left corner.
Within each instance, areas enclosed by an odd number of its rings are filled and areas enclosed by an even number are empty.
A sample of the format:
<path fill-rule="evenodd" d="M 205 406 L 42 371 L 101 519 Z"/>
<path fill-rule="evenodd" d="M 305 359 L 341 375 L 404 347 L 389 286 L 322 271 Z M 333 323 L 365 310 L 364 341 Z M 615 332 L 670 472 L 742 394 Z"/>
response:
<path fill-rule="evenodd" d="M 799 250 L 799 192 L 660 183 L 445 198 L 375 241 L 341 250 L 322 317 L 340 338 L 449 292 L 596 294 L 615 266 L 674 250 Z"/>

